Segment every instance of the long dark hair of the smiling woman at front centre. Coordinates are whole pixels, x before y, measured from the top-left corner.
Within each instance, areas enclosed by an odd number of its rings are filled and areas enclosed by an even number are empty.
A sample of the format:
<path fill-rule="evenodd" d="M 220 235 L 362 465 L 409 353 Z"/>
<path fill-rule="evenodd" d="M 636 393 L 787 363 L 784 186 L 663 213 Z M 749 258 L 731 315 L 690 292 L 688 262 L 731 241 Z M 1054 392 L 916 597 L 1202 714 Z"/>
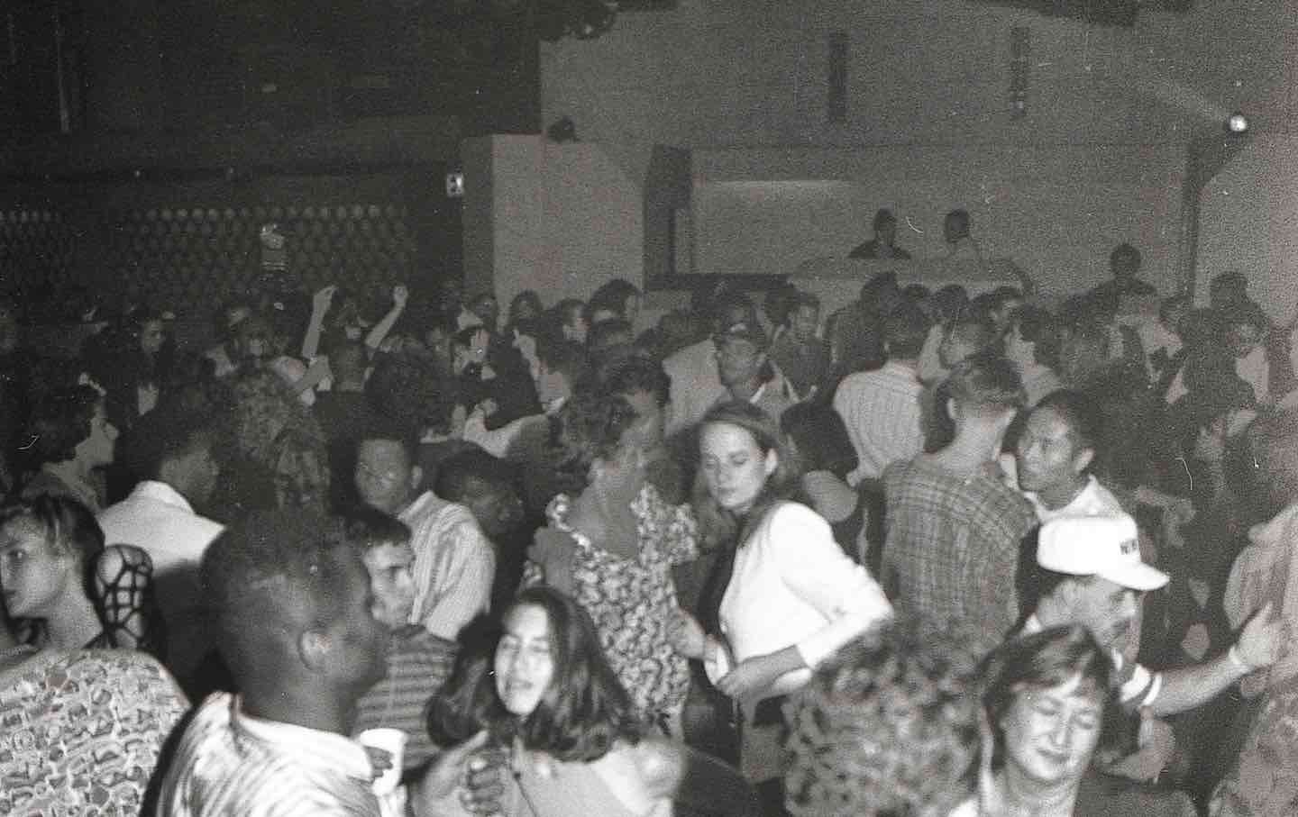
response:
<path fill-rule="evenodd" d="M 450 680 L 430 703 L 428 734 L 440 743 L 459 743 L 487 729 L 498 743 L 518 738 L 530 751 L 580 763 L 604 757 L 618 740 L 636 743 L 641 726 L 585 608 L 545 585 L 523 590 L 501 620 L 519 607 L 541 608 L 550 629 L 554 677 L 536 709 L 519 718 L 496 694 L 496 632 L 461 654 Z"/>

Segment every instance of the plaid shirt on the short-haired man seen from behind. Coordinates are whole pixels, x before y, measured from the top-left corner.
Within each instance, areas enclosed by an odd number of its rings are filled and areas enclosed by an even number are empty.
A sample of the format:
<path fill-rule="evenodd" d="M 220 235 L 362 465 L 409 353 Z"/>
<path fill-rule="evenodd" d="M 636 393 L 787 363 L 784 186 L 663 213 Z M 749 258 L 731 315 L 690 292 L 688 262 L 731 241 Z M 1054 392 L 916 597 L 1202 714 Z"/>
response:
<path fill-rule="evenodd" d="M 884 497 L 883 584 L 897 611 L 1006 635 L 1022 541 L 1037 524 L 1028 501 L 990 471 L 959 476 L 924 455 L 884 471 Z"/>

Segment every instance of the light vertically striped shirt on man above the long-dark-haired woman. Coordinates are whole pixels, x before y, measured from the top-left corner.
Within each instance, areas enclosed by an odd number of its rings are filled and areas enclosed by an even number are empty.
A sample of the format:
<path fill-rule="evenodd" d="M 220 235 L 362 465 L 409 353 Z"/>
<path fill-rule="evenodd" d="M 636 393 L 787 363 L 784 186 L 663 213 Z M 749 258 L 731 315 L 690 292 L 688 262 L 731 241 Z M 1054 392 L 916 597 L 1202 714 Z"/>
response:
<path fill-rule="evenodd" d="M 454 641 L 491 606 L 496 550 L 462 504 L 424 491 L 397 514 L 410 525 L 414 549 L 414 610 L 410 624 Z"/>

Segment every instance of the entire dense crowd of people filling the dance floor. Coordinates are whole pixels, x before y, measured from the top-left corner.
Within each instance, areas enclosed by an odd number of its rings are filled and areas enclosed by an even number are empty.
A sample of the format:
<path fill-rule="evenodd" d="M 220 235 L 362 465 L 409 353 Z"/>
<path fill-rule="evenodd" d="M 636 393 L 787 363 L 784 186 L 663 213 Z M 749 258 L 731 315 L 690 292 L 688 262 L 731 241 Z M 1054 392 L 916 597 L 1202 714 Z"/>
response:
<path fill-rule="evenodd" d="M 0 813 L 1295 813 L 1295 327 L 1110 261 L 3 300 Z"/>

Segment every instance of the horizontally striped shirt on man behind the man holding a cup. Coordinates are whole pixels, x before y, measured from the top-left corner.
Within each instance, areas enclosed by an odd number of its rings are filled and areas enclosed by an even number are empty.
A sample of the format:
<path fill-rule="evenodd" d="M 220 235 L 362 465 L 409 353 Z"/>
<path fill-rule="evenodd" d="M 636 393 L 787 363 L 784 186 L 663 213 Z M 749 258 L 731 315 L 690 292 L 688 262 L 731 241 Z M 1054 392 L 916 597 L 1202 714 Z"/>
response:
<path fill-rule="evenodd" d="M 432 760 L 437 748 L 428 738 L 424 708 L 456 668 L 458 645 L 410 625 L 393 639 L 388 672 L 356 704 L 353 734 L 388 726 L 406 733 L 406 769 Z"/>

